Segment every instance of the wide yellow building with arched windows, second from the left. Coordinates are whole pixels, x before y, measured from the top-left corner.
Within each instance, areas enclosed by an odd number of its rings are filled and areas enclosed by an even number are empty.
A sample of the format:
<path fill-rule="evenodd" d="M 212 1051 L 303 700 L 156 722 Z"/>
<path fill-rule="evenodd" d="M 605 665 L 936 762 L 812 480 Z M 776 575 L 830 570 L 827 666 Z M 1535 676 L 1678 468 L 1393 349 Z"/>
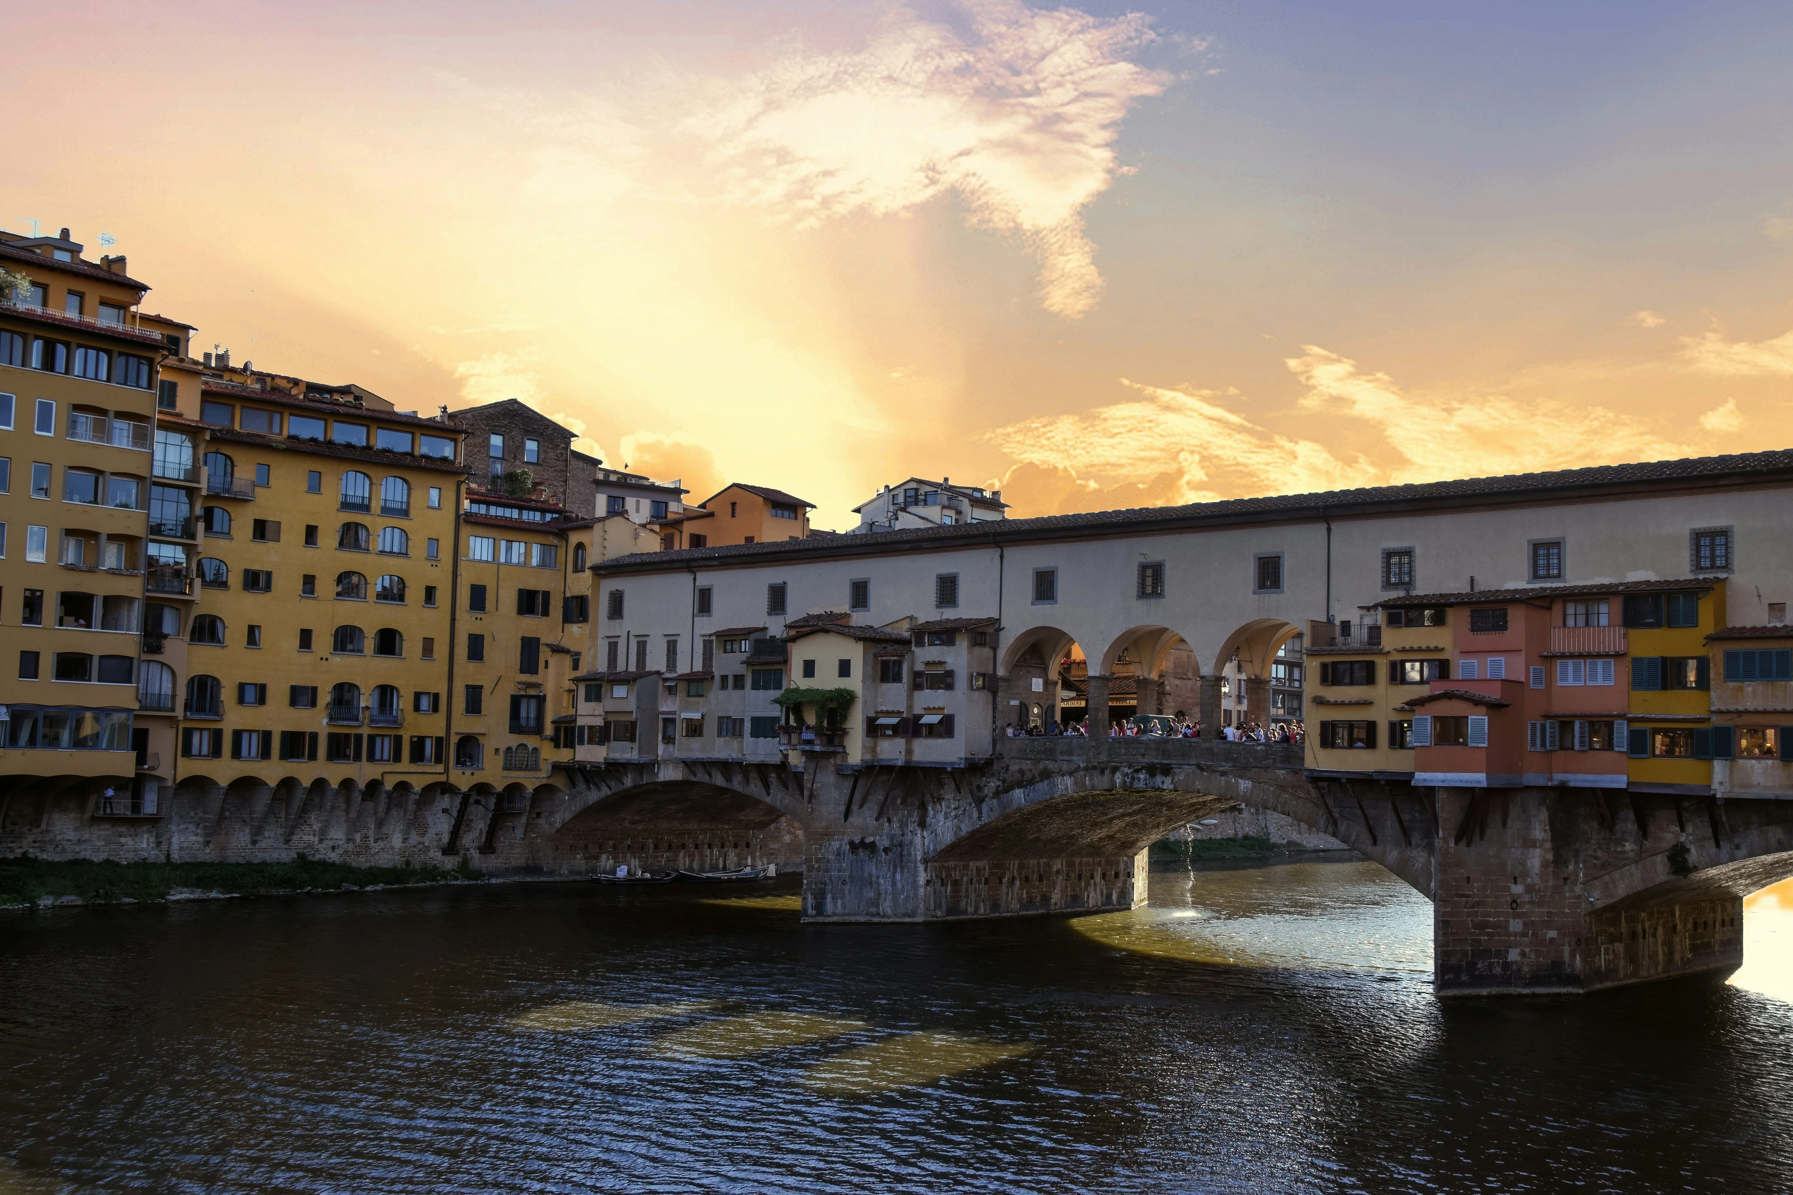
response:
<path fill-rule="evenodd" d="M 228 355 L 199 374 L 161 410 L 151 520 L 176 779 L 446 779 L 461 430 Z"/>

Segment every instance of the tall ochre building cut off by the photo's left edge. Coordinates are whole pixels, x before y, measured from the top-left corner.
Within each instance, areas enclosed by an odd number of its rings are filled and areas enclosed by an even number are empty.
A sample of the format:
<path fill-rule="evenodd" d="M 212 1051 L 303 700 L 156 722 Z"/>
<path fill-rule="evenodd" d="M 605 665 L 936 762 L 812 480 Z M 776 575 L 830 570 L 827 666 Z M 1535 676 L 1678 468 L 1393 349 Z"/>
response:
<path fill-rule="evenodd" d="M 145 529 L 160 364 L 185 324 L 145 317 L 126 260 L 88 262 L 68 229 L 0 233 L 0 774 L 9 795 L 152 813 Z"/>

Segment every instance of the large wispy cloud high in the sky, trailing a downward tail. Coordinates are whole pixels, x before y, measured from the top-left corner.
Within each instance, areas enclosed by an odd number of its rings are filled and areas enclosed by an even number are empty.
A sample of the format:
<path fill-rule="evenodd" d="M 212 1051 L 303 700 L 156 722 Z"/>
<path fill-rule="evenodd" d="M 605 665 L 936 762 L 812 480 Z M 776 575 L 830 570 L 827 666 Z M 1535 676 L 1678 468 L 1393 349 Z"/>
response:
<path fill-rule="evenodd" d="M 959 32 L 896 9 L 862 50 L 791 50 L 685 129 L 733 199 L 798 222 L 957 195 L 974 226 L 1027 244 L 1049 312 L 1081 315 L 1103 288 L 1083 211 L 1117 174 L 1121 120 L 1167 82 L 1128 61 L 1148 20 L 1015 0 L 965 14 Z"/>

